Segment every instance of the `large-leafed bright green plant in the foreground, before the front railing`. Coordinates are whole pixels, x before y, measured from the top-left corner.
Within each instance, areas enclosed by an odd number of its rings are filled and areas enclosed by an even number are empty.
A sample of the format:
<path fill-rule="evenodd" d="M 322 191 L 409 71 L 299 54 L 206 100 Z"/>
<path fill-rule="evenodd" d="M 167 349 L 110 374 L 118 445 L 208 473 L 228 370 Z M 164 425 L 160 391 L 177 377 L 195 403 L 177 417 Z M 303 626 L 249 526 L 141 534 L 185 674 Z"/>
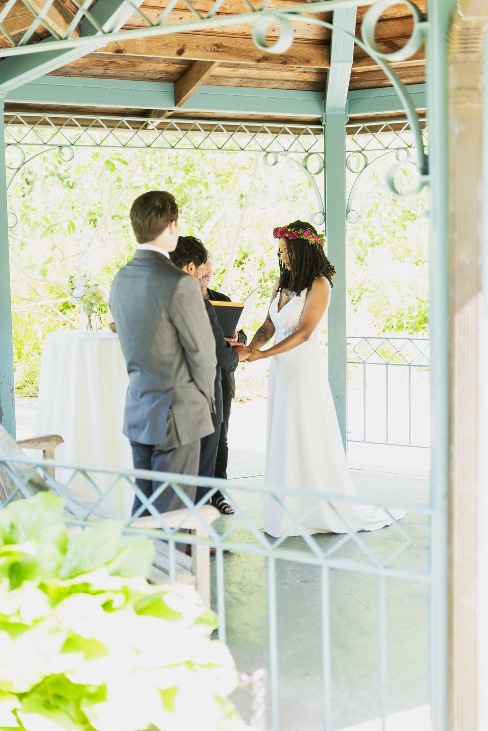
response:
<path fill-rule="evenodd" d="M 0 727 L 242 727 L 216 616 L 188 586 L 150 586 L 153 545 L 102 521 L 68 535 L 52 493 L 0 511 Z"/>

